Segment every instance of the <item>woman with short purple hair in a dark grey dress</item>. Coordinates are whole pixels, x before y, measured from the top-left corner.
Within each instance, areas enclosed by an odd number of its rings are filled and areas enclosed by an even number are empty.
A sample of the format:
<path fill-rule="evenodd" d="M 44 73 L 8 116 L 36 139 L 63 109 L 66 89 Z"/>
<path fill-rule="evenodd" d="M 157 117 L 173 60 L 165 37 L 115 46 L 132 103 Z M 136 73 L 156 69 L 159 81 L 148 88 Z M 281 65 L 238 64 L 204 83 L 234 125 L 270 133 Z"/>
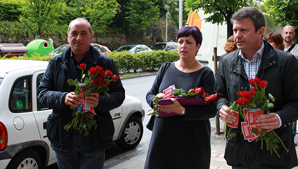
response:
<path fill-rule="evenodd" d="M 176 88 L 190 90 L 203 87 L 214 94 L 213 71 L 204 67 L 196 55 L 202 43 L 197 26 L 182 27 L 177 34 L 180 59 L 170 63 L 164 77 L 161 71 L 146 95 L 153 107 L 154 97 L 165 97 L 163 90 L 175 84 Z M 215 101 L 203 106 L 158 105 L 158 109 L 181 116 L 155 118 L 144 169 L 209 169 L 211 158 L 209 118 L 215 117 Z"/>

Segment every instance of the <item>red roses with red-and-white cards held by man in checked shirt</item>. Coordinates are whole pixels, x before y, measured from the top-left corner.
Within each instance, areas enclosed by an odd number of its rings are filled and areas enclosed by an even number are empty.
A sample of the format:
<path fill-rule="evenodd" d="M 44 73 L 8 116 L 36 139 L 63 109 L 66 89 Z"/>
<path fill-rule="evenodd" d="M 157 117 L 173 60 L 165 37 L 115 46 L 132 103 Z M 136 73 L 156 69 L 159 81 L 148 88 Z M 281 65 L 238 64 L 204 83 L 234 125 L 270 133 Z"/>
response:
<path fill-rule="evenodd" d="M 263 149 L 263 142 L 266 143 L 266 150 L 275 152 L 279 157 L 280 155 L 277 153 L 278 143 L 281 142 L 284 149 L 288 152 L 286 147 L 284 146 L 281 138 L 274 132 L 274 130 L 267 131 L 262 130 L 255 120 L 264 114 L 269 113 L 269 108 L 273 108 L 274 104 L 271 101 L 275 101 L 275 98 L 269 93 L 267 98 L 265 96 L 265 88 L 268 85 L 267 81 L 261 81 L 259 78 L 250 79 L 249 84 L 253 86 L 250 91 L 241 91 L 238 93 L 239 99 L 230 103 L 230 110 L 234 110 L 239 112 L 240 115 L 244 118 L 245 122 L 241 123 L 241 128 L 243 131 L 243 135 L 246 140 L 261 140 L 261 149 Z M 243 108 L 243 113 L 242 113 Z M 229 125 L 229 124 L 228 124 Z M 234 127 L 237 128 L 237 127 Z M 235 136 L 234 133 L 230 134 L 229 131 L 227 142 L 229 139 Z"/>

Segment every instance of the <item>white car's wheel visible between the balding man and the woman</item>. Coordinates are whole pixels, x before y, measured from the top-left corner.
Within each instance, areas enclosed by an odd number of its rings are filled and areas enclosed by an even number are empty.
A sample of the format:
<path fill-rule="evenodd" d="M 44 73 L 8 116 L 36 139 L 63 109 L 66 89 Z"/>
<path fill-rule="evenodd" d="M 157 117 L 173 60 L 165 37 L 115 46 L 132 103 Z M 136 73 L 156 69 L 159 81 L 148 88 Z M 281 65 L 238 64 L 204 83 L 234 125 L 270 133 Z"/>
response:
<path fill-rule="evenodd" d="M 132 116 L 125 124 L 120 139 L 116 141 L 121 149 L 133 149 L 141 141 L 143 136 L 143 123 L 140 118 Z"/>

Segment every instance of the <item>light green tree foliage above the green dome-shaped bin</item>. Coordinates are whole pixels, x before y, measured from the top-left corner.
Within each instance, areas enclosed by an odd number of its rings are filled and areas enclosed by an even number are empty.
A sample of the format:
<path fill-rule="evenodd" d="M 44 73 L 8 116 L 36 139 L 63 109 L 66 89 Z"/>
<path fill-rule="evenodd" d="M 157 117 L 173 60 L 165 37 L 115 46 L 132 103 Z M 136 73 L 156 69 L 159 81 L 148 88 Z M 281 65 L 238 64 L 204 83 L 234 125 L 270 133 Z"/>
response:
<path fill-rule="evenodd" d="M 41 35 L 57 26 L 57 19 L 64 13 L 64 0 L 24 0 L 20 21 L 35 35 Z"/>

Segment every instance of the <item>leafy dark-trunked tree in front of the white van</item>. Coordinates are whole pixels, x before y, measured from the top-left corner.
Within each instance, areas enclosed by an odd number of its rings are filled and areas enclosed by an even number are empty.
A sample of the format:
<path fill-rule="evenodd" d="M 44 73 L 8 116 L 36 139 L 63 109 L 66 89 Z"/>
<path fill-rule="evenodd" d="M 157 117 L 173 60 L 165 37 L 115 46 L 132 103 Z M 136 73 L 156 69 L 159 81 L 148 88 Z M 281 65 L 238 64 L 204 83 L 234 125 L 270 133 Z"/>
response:
<path fill-rule="evenodd" d="M 229 38 L 233 34 L 231 17 L 234 12 L 242 7 L 248 6 L 252 0 L 186 0 L 186 10 L 204 10 L 204 14 L 211 14 L 206 18 L 207 22 L 213 24 L 227 23 L 227 33 Z"/>

